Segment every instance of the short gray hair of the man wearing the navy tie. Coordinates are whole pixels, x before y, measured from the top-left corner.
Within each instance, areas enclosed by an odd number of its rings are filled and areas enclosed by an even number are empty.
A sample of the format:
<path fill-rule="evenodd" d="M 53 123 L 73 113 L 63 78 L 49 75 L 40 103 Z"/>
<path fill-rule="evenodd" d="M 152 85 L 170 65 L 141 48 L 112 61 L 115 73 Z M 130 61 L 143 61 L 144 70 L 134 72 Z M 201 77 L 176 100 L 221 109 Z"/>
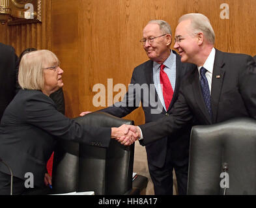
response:
<path fill-rule="evenodd" d="M 197 34 L 198 32 L 203 32 L 206 40 L 208 40 L 210 44 L 214 44 L 214 30 L 212 29 L 209 19 L 205 15 L 199 13 L 184 14 L 178 19 L 178 23 L 187 19 L 191 20 L 193 33 Z"/>

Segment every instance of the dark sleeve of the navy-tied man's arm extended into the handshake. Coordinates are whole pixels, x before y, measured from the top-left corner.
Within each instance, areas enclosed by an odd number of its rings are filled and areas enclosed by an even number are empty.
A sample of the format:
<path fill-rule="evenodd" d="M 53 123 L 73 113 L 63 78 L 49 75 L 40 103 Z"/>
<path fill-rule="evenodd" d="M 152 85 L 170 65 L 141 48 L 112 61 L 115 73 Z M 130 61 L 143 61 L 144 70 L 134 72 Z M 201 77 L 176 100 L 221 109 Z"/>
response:
<path fill-rule="evenodd" d="M 169 116 L 161 118 L 156 122 L 139 125 L 143 133 L 143 139 L 140 141 L 141 145 L 147 145 L 165 136 L 170 138 L 173 133 L 192 122 L 192 118 L 193 115 L 186 103 L 181 86 L 178 99 L 173 105 Z"/>

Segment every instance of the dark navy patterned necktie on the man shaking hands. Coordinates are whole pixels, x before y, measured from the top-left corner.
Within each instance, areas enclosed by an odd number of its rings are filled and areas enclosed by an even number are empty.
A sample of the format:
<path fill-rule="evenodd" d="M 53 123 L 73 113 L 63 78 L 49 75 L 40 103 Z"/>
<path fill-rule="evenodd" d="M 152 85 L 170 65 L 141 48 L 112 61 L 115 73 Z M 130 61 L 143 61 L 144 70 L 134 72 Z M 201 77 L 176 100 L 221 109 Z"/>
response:
<path fill-rule="evenodd" d="M 203 94 L 203 99 L 205 101 L 205 105 L 206 108 L 210 114 L 210 116 L 212 116 L 212 108 L 210 106 L 210 89 L 209 89 L 209 85 L 208 85 L 208 81 L 206 79 L 205 73 L 207 72 L 207 70 L 205 68 L 201 68 L 200 69 L 200 86 L 201 86 L 201 91 Z"/>

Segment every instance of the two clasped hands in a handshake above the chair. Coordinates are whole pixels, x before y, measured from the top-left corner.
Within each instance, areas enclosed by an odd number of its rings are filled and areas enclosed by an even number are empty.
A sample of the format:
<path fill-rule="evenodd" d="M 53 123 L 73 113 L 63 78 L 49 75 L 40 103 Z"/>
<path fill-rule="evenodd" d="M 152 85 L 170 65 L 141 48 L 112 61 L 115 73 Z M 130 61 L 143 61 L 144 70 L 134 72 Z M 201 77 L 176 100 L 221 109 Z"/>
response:
<path fill-rule="evenodd" d="M 123 124 L 118 128 L 112 127 L 111 138 L 115 138 L 115 140 L 124 146 L 130 146 L 131 144 L 134 144 L 135 140 L 140 138 L 139 127 L 126 124 Z"/>

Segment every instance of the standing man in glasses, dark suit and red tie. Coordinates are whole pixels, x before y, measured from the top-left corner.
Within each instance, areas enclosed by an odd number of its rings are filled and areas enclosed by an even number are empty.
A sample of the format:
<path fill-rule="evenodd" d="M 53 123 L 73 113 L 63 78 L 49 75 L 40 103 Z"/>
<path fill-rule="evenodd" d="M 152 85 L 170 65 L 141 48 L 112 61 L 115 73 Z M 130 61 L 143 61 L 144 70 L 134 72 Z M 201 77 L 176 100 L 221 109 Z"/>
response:
<path fill-rule="evenodd" d="M 190 64 L 182 64 L 180 56 L 170 50 L 171 36 L 171 27 L 166 21 L 149 21 L 143 29 L 143 39 L 140 42 L 150 60 L 135 67 L 124 99 L 101 111 L 123 117 L 137 109 L 141 101 L 146 123 L 169 115 L 177 100 L 181 80 L 191 68 Z M 167 90 L 166 84 L 161 80 L 162 64 L 165 66 L 164 73 L 170 86 Z M 155 194 L 173 194 L 173 169 L 177 176 L 178 194 L 186 194 L 189 133 L 190 126 L 185 126 L 173 136 L 173 140 L 163 136 L 158 142 L 146 146 Z"/>

